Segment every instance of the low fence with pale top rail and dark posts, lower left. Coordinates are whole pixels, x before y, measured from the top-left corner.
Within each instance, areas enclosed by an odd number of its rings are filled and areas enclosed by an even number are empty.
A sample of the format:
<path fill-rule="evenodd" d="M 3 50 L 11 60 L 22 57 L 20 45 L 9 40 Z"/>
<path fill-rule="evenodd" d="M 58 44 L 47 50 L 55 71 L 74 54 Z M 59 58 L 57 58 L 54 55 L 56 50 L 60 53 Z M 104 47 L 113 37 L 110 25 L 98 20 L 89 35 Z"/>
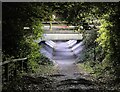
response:
<path fill-rule="evenodd" d="M 26 62 L 25 62 L 26 61 Z M 5 75 L 5 80 L 9 81 L 9 65 L 13 63 L 15 68 L 14 68 L 14 77 L 17 75 L 17 64 L 19 63 L 20 65 L 20 70 L 23 72 L 23 68 L 26 68 L 27 71 L 27 58 L 21 58 L 21 59 L 13 59 L 9 61 L 4 61 L 0 62 L 0 66 L 3 67 L 4 69 L 4 75 Z"/>

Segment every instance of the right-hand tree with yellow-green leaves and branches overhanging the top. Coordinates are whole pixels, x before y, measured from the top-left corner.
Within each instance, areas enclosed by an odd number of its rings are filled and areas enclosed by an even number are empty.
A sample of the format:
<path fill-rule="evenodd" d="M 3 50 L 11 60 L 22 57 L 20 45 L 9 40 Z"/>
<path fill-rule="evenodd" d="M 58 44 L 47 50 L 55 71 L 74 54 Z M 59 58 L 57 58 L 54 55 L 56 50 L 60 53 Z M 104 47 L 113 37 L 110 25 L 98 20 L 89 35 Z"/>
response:
<path fill-rule="evenodd" d="M 119 3 L 67 3 L 66 20 L 73 25 L 81 25 L 78 21 L 93 23 L 95 20 L 100 21 L 100 28 L 98 31 L 87 33 L 84 36 L 87 53 L 96 51 L 96 60 L 101 68 L 102 73 L 109 71 L 119 77 L 118 67 L 120 55 L 120 32 L 119 32 Z M 73 14 L 74 13 L 74 14 Z M 96 26 L 96 25 L 95 25 Z M 93 36 L 93 34 L 95 34 Z M 93 38 L 93 39 L 92 39 Z M 96 43 L 95 49 L 94 44 Z M 91 54 L 88 54 L 86 60 L 92 60 Z M 97 63 L 94 62 L 94 63 Z M 94 65 L 97 67 L 98 64 Z M 96 69 L 97 70 L 97 69 Z"/>

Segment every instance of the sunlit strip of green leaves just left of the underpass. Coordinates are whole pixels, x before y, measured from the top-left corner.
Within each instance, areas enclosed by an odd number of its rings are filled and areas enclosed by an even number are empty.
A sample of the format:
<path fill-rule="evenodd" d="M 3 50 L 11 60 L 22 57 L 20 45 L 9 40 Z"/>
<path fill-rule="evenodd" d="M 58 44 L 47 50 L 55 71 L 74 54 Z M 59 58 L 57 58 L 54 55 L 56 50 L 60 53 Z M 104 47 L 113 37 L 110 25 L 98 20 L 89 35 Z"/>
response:
<path fill-rule="evenodd" d="M 29 46 L 29 53 L 27 54 L 29 60 L 29 67 L 32 70 L 39 68 L 38 62 L 40 61 L 40 46 L 35 42 L 36 39 L 39 39 L 42 35 L 42 24 L 39 20 L 35 20 L 32 23 L 33 32 L 31 35 L 25 38 L 26 44 Z"/>

